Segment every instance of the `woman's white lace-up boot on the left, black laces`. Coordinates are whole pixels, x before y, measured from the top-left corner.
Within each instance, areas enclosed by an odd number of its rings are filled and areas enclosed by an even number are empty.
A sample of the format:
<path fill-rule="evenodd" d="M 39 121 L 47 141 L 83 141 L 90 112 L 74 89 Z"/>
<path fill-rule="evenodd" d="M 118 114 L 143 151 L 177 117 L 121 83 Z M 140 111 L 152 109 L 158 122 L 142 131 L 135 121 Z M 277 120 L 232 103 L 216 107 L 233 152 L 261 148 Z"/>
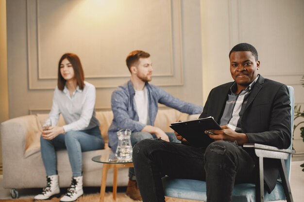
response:
<path fill-rule="evenodd" d="M 47 186 L 42 189 L 42 192 L 34 196 L 35 200 L 46 200 L 56 195 L 59 197 L 60 189 L 58 185 L 58 175 L 47 176 Z"/>

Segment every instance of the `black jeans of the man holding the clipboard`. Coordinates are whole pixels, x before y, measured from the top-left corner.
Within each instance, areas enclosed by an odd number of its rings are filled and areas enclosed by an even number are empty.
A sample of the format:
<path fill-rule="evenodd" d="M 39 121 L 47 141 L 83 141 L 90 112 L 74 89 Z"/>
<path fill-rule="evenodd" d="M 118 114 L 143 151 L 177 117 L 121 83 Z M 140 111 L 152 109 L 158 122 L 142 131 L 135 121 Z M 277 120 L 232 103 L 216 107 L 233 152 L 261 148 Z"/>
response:
<path fill-rule="evenodd" d="M 253 182 L 253 158 L 236 143 L 216 141 L 195 148 L 164 140 L 142 140 L 133 162 L 143 202 L 165 202 L 161 178 L 206 181 L 207 202 L 230 202 L 235 183 Z"/>

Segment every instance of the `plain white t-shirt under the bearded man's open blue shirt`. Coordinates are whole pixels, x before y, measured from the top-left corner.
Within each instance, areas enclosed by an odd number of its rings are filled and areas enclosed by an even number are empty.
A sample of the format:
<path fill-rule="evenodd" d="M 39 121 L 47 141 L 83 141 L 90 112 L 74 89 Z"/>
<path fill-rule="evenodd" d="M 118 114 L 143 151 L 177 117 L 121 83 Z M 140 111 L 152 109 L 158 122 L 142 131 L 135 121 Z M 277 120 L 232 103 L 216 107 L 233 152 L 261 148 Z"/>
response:
<path fill-rule="evenodd" d="M 149 99 L 148 91 L 145 87 L 142 91 L 135 90 L 134 100 L 136 103 L 139 122 L 142 124 L 150 124 L 149 120 Z"/>

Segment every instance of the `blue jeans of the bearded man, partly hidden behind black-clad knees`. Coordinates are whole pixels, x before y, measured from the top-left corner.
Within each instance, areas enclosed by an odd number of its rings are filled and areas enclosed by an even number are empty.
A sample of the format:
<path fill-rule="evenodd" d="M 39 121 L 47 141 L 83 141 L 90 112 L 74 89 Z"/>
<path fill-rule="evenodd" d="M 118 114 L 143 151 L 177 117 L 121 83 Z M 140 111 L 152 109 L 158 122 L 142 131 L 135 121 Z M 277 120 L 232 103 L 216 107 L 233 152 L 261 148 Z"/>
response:
<path fill-rule="evenodd" d="M 174 135 L 174 133 L 166 133 L 166 134 L 168 135 L 170 142 L 181 143 L 180 140 L 176 139 L 176 136 Z M 155 139 L 157 137 L 156 137 L 156 135 L 148 133 L 148 132 L 134 132 L 134 133 L 131 133 L 131 144 L 134 147 L 134 145 L 137 142 L 139 142 L 141 140 L 145 140 L 145 139 L 151 139 L 151 138 Z M 129 178 L 131 180 L 136 180 L 134 168 L 129 169 Z"/>

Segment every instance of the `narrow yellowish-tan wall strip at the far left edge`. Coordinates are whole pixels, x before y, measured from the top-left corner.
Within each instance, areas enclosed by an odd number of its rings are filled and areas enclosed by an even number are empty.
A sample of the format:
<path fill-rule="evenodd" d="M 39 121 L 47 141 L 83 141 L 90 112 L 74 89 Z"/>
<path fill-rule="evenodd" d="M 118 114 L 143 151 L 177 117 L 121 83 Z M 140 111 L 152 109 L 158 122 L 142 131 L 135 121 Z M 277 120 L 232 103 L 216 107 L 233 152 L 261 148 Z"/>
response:
<path fill-rule="evenodd" d="M 0 123 L 8 120 L 7 50 L 6 50 L 6 2 L 0 0 Z M 1 140 L 1 136 L 0 136 Z M 0 144 L 0 165 L 2 165 Z"/>

